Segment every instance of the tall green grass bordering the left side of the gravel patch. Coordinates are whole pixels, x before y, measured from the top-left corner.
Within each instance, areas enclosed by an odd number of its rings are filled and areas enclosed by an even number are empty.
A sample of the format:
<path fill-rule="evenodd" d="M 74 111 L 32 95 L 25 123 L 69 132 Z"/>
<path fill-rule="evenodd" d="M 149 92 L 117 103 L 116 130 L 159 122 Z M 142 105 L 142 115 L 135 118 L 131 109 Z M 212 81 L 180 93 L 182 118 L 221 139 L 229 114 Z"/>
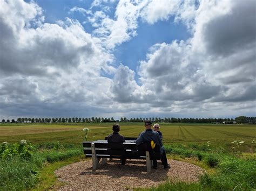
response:
<path fill-rule="evenodd" d="M 39 173 L 47 162 L 66 160 L 83 153 L 82 146 L 64 144 L 57 152 L 54 145 L 36 145 L 37 151 L 29 159 L 0 160 L 0 190 L 31 189 L 38 183 Z"/>

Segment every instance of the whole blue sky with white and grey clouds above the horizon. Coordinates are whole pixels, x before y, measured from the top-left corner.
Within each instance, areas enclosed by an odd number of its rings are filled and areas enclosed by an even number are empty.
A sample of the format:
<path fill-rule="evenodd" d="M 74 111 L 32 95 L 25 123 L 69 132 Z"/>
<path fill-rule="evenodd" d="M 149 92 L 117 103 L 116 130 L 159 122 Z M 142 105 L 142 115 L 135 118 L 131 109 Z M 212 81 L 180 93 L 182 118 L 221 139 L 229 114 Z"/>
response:
<path fill-rule="evenodd" d="M 0 1 L 0 118 L 256 116 L 254 0 Z"/>

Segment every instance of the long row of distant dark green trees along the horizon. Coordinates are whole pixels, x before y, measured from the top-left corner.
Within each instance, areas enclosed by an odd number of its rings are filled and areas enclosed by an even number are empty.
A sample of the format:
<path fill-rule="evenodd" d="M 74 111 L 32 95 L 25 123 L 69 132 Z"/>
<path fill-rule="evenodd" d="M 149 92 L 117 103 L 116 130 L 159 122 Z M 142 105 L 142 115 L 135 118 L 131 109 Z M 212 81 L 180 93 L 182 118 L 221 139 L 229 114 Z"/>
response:
<path fill-rule="evenodd" d="M 103 118 L 103 117 L 91 117 L 91 118 L 81 118 L 81 117 L 70 117 L 70 118 L 17 118 L 2 119 L 2 123 L 109 123 L 109 122 L 144 122 L 150 120 L 154 123 L 223 123 L 233 124 L 233 123 L 256 123 L 256 117 L 246 117 L 239 116 L 235 119 L 233 118 L 175 118 L 175 117 L 149 117 L 149 118 L 130 118 L 121 117 L 120 119 Z"/>

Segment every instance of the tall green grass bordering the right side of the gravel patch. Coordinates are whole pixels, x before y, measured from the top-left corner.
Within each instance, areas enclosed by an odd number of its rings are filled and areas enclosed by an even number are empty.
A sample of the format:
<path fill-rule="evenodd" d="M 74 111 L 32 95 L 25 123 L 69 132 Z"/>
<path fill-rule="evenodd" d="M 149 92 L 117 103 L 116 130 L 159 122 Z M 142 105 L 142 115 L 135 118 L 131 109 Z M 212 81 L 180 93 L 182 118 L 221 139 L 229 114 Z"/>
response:
<path fill-rule="evenodd" d="M 185 158 L 197 158 L 211 168 L 215 174 L 203 174 L 199 183 L 166 182 L 154 190 L 252 190 L 256 189 L 256 160 L 227 152 L 223 148 L 205 145 L 166 145 L 167 154 L 178 154 Z"/>

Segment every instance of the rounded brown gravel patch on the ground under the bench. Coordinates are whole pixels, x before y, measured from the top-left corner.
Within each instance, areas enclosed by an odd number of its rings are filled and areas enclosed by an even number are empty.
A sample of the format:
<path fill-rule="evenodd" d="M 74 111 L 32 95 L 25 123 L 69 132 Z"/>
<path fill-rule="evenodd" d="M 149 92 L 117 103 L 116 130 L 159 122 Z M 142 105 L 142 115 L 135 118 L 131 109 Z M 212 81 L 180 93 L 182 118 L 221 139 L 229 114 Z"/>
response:
<path fill-rule="evenodd" d="M 163 183 L 168 178 L 172 181 L 198 181 L 198 175 L 204 170 L 196 165 L 177 160 L 168 160 L 171 168 L 165 170 L 158 163 L 158 169 L 146 172 L 145 160 L 127 160 L 121 165 L 119 160 L 107 161 L 92 171 L 92 161 L 85 160 L 64 166 L 55 174 L 67 184 L 59 190 L 120 190 L 137 187 L 152 187 Z"/>

